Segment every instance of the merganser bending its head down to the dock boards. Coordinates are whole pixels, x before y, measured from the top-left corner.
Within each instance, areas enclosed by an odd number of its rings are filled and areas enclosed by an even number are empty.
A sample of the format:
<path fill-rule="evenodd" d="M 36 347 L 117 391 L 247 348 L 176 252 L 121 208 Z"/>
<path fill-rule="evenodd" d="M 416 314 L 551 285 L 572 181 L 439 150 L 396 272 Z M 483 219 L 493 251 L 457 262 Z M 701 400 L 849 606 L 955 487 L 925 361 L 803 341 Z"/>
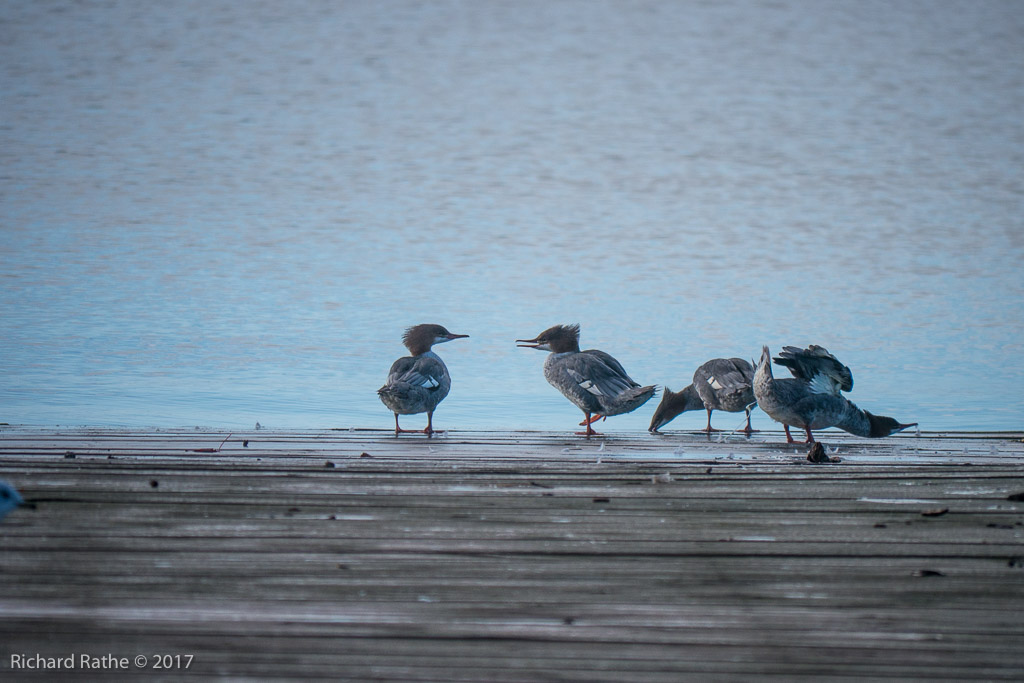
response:
<path fill-rule="evenodd" d="M 754 366 L 742 358 L 715 358 L 697 368 L 693 373 L 693 384 L 682 391 L 665 388 L 662 402 L 654 411 L 647 430 L 656 432 L 677 415 L 703 409 L 708 411 L 706 432 L 719 431 L 711 426 L 712 411 L 745 411 L 746 427 L 742 431 L 751 434 L 757 431 L 751 429 L 751 410 L 754 405 Z"/>

